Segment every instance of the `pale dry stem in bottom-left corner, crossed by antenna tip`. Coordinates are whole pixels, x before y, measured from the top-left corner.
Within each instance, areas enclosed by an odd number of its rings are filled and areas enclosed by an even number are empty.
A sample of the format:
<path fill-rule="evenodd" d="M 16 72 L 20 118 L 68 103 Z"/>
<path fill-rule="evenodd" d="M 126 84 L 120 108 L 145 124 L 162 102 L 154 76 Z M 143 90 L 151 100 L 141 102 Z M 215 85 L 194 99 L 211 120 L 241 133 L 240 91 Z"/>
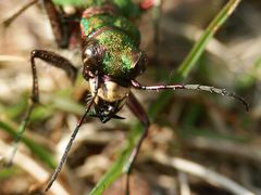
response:
<path fill-rule="evenodd" d="M 5 144 L 0 140 L 0 156 L 3 156 L 8 160 L 10 151 L 13 147 L 10 144 Z M 26 156 L 20 151 L 16 152 L 13 162 L 21 167 L 23 170 L 28 172 L 33 178 L 35 178 L 39 183 L 45 183 L 49 179 L 49 172 L 37 164 L 33 158 Z M 69 195 L 70 193 L 62 186 L 62 184 L 57 181 L 53 187 L 50 190 L 53 195 Z"/>

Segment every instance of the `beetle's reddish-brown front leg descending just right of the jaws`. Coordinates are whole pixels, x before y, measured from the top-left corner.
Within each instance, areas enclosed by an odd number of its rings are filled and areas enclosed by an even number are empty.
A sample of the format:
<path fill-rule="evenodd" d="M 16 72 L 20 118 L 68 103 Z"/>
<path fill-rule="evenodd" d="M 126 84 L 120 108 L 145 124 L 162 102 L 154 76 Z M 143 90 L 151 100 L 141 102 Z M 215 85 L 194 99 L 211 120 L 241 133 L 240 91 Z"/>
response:
<path fill-rule="evenodd" d="M 140 103 L 132 92 L 129 93 L 129 96 L 128 96 L 127 106 L 133 112 L 133 114 L 139 119 L 139 121 L 142 123 L 142 127 L 144 127 L 144 132 L 139 138 L 135 148 L 133 150 L 132 155 L 128 158 L 127 165 L 124 168 L 127 174 L 126 194 L 129 194 L 129 174 L 132 172 L 133 164 L 138 155 L 140 146 L 148 134 L 150 121 L 145 109 L 142 108 L 142 106 L 140 105 Z"/>

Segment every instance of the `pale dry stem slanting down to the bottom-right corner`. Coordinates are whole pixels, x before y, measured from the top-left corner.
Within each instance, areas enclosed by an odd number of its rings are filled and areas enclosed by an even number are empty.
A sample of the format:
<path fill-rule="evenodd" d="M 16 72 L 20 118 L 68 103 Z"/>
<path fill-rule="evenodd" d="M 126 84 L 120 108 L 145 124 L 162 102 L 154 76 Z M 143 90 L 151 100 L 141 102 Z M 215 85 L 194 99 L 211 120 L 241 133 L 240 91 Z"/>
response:
<path fill-rule="evenodd" d="M 221 188 L 226 188 L 233 194 L 254 195 L 252 192 L 237 184 L 236 182 L 229 180 L 228 178 L 225 178 L 199 164 L 177 157 L 171 158 L 161 152 L 154 152 L 152 159 L 159 164 L 171 166 L 179 171 L 199 177 L 203 179 L 206 182 L 211 183 Z"/>

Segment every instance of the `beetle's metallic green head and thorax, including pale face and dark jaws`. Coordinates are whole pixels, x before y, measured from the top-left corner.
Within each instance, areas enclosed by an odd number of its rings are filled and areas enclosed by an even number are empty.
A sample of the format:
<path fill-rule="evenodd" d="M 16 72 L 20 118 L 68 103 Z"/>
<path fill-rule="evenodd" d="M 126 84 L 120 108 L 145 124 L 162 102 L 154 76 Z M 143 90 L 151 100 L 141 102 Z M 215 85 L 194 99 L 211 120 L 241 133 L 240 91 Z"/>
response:
<path fill-rule="evenodd" d="M 105 122 L 115 114 L 129 93 L 130 80 L 145 70 L 145 54 L 139 50 L 139 31 L 116 6 L 102 4 L 86 9 L 80 20 L 84 78 L 95 92 L 95 115 Z"/>

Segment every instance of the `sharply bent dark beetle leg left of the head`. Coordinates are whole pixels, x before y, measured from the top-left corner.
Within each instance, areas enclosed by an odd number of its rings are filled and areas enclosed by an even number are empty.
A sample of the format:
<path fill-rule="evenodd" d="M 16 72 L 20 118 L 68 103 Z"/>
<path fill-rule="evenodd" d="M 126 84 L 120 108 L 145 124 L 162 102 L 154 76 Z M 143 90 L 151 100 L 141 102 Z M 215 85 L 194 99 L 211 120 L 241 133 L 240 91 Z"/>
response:
<path fill-rule="evenodd" d="M 50 52 L 50 51 L 45 51 L 45 50 L 32 51 L 32 54 L 30 54 L 30 65 L 32 65 L 32 73 L 33 73 L 33 88 L 32 88 L 32 96 L 30 96 L 32 101 L 29 102 L 29 106 L 25 114 L 25 118 L 18 129 L 17 136 L 14 141 L 14 150 L 12 151 L 10 160 L 8 161 L 7 166 L 12 165 L 14 155 L 17 151 L 17 144 L 22 139 L 25 128 L 27 127 L 27 123 L 30 118 L 30 114 L 32 114 L 35 105 L 39 103 L 38 78 L 37 78 L 35 58 L 40 58 L 40 60 L 49 63 L 52 66 L 63 69 L 73 82 L 75 81 L 76 76 L 77 76 L 77 69 L 66 58 L 64 58 L 53 52 Z"/>

